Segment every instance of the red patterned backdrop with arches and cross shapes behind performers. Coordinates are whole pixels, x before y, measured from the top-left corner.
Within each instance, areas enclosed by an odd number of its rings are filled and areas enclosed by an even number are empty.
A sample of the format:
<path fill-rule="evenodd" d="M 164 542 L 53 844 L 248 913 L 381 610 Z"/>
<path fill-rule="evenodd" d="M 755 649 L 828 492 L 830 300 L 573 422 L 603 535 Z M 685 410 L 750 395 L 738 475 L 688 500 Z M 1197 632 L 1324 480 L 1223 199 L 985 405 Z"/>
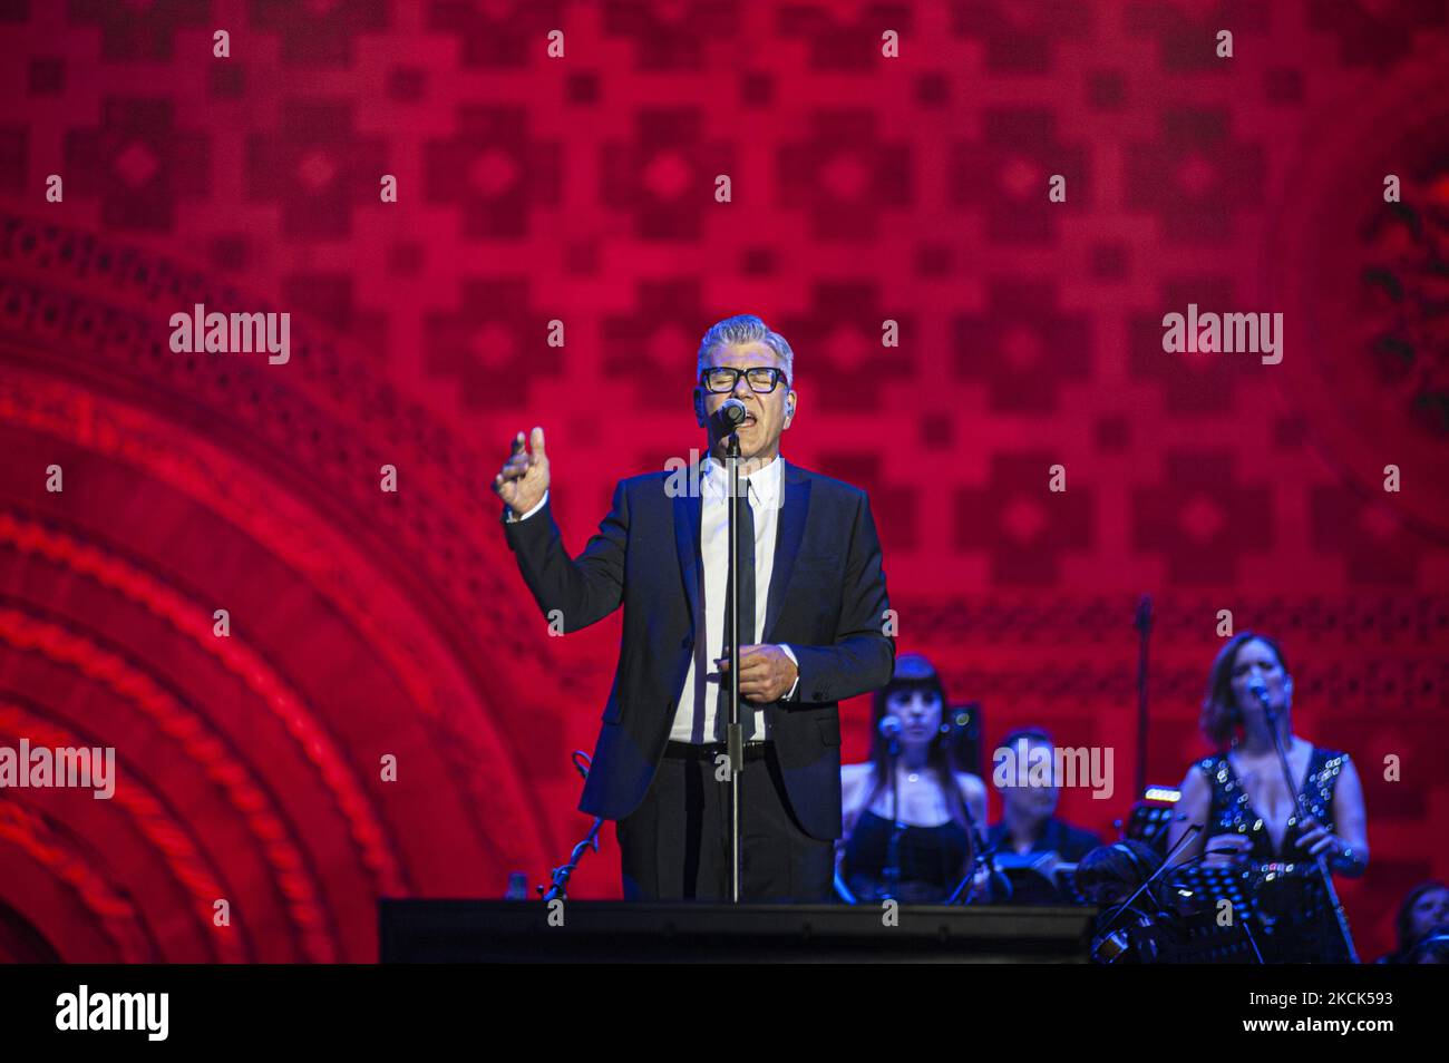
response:
<path fill-rule="evenodd" d="M 378 896 L 542 881 L 619 629 L 548 637 L 488 481 L 543 424 L 580 547 L 742 311 L 901 649 L 988 739 L 1117 750 L 1069 818 L 1130 801 L 1151 592 L 1151 781 L 1230 608 L 1364 770 L 1362 951 L 1449 876 L 1445 0 L 0 0 L 0 744 L 120 773 L 0 792 L 0 959 L 371 960 Z M 1164 353 L 1190 301 L 1281 311 L 1282 364 Z M 291 361 L 172 353 L 196 303 Z"/>

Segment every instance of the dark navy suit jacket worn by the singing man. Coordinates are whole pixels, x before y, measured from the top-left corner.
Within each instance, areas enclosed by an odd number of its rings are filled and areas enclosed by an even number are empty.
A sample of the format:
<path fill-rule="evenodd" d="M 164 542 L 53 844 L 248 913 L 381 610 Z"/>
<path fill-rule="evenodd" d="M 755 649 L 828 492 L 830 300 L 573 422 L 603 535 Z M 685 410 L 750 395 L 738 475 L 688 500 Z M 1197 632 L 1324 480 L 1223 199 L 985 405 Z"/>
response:
<path fill-rule="evenodd" d="M 697 487 L 688 490 L 698 484 L 694 474 L 620 481 L 613 508 L 577 558 L 564 549 L 548 504 L 527 520 L 503 524 L 535 601 L 545 617 L 558 610 L 554 615 L 562 617 L 565 631 L 625 608 L 619 668 L 578 805 L 606 820 L 622 820 L 643 801 L 698 636 L 701 497 Z M 796 820 L 811 837 L 835 839 L 840 836 L 838 702 L 890 681 L 895 626 L 887 623 L 881 543 L 865 492 L 788 462 L 782 479 L 758 642 L 790 643 L 800 660 L 800 685 L 791 701 L 764 708 Z"/>

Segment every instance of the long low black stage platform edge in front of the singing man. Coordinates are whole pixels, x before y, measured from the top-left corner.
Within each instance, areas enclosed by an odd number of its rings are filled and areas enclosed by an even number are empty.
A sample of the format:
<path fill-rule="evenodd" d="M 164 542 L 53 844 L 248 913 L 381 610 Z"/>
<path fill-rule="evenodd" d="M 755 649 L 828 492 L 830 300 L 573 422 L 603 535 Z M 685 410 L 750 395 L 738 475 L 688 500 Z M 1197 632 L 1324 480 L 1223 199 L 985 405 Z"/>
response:
<path fill-rule="evenodd" d="M 1085 963 L 1094 908 L 381 901 L 383 963 Z"/>

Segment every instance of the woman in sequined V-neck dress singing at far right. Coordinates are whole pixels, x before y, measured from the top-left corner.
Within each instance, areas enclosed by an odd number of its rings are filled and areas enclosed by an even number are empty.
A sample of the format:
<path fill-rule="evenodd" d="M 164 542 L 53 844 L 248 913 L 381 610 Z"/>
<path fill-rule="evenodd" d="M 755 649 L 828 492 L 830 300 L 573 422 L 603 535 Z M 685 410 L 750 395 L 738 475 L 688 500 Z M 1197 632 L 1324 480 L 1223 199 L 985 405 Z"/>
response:
<path fill-rule="evenodd" d="M 1298 818 L 1294 795 L 1262 701 L 1277 715 L 1298 792 L 1308 818 Z M 1204 866 L 1237 867 L 1259 915 L 1255 936 L 1266 963 L 1346 963 L 1348 949 L 1329 907 L 1314 857 L 1358 878 L 1368 866 L 1364 786 L 1348 753 L 1314 746 L 1293 733 L 1293 676 L 1272 639 L 1243 631 L 1213 662 L 1203 699 L 1201 728 L 1219 750 L 1198 760 L 1182 779 L 1182 820 L 1168 833 L 1168 852 L 1190 824 L 1203 830 L 1177 856 L 1178 863 L 1204 850 Z"/>

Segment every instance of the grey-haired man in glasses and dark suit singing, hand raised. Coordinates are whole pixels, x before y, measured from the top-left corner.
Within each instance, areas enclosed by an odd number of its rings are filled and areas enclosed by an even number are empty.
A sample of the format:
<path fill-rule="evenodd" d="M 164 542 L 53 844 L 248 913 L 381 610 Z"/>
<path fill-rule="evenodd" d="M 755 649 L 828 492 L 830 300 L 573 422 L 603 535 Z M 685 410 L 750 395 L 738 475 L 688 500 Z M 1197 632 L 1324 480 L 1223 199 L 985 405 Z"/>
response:
<path fill-rule="evenodd" d="M 840 834 L 838 702 L 884 686 L 895 660 L 881 545 L 864 491 L 780 456 L 796 416 L 794 352 L 753 314 L 700 342 L 701 466 L 632 476 L 569 559 L 549 513 L 543 430 L 520 432 L 494 479 L 523 582 L 565 631 L 620 604 L 623 640 L 580 810 L 617 823 L 627 899 L 730 894 L 730 429 L 740 445 L 742 896 L 827 899 Z M 748 501 L 748 505 L 745 504 Z M 556 610 L 556 613 L 555 613 Z"/>

